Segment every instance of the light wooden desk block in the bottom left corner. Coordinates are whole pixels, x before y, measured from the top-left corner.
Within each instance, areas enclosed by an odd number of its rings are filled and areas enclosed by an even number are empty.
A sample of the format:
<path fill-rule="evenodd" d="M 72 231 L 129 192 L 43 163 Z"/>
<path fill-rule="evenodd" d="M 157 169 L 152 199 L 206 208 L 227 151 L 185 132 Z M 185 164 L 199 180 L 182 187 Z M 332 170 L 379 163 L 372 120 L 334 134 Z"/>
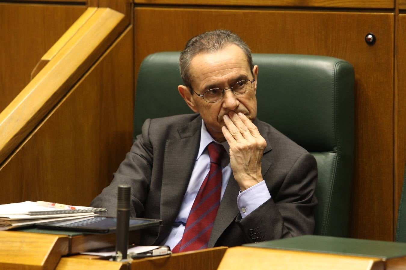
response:
<path fill-rule="evenodd" d="M 55 269 L 68 245 L 67 236 L 1 231 L 0 268 Z"/>

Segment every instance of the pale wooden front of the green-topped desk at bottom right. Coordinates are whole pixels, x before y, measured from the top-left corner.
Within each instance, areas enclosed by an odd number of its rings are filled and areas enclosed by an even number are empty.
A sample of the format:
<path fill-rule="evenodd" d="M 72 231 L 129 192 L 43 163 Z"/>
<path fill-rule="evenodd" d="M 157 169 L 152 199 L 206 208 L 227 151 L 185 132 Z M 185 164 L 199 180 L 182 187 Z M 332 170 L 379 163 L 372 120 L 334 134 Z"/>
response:
<path fill-rule="evenodd" d="M 266 259 L 264 259 L 266 258 Z M 303 251 L 284 251 L 257 247 L 227 249 L 218 270 L 232 269 L 302 269 L 302 270 L 384 270 L 379 258 L 355 257 Z"/>

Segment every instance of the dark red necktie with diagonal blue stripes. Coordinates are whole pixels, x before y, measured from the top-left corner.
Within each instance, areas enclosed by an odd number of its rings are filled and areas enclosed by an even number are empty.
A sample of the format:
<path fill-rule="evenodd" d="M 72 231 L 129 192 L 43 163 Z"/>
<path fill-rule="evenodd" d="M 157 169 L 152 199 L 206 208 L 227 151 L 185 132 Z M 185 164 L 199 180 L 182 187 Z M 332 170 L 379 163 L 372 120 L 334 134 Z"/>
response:
<path fill-rule="evenodd" d="M 207 146 L 207 151 L 210 157 L 210 170 L 194 199 L 182 239 L 172 249 L 174 253 L 205 249 L 209 242 L 220 205 L 221 157 L 225 149 L 222 145 L 211 142 Z"/>

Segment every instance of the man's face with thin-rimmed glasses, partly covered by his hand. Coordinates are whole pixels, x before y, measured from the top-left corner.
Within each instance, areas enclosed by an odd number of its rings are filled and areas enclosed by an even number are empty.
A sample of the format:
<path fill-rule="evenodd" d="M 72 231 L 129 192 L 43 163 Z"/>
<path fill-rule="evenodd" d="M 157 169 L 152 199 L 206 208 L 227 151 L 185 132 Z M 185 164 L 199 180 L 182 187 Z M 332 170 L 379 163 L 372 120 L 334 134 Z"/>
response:
<path fill-rule="evenodd" d="M 254 121 L 257 117 L 257 74 L 258 67 L 251 72 L 248 61 L 242 49 L 236 45 L 229 45 L 216 53 L 200 53 L 192 58 L 190 63 L 192 88 L 198 94 L 213 88 L 226 89 L 236 82 L 248 79 L 253 82 L 251 91 L 243 95 L 235 95 L 230 89 L 224 92 L 221 100 L 209 103 L 203 97 L 190 94 L 186 86 L 179 85 L 181 96 L 189 107 L 200 113 L 207 130 L 215 140 L 224 141 L 221 127 L 223 116 L 233 111 L 243 113 Z M 253 77 L 254 74 L 254 77 Z"/>

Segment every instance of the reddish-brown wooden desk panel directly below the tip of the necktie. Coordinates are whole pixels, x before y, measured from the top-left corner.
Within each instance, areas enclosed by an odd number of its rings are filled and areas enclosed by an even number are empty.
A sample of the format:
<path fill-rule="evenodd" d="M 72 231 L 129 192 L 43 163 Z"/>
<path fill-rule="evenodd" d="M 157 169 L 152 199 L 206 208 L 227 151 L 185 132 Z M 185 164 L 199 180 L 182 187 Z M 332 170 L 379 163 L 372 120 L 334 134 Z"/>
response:
<path fill-rule="evenodd" d="M 216 270 L 226 250 L 227 247 L 214 247 L 210 249 L 202 249 L 197 251 L 174 253 L 172 255 L 167 256 L 138 259 L 132 261 L 131 269 Z M 240 268 L 240 269 L 253 269 L 253 268 Z"/>

